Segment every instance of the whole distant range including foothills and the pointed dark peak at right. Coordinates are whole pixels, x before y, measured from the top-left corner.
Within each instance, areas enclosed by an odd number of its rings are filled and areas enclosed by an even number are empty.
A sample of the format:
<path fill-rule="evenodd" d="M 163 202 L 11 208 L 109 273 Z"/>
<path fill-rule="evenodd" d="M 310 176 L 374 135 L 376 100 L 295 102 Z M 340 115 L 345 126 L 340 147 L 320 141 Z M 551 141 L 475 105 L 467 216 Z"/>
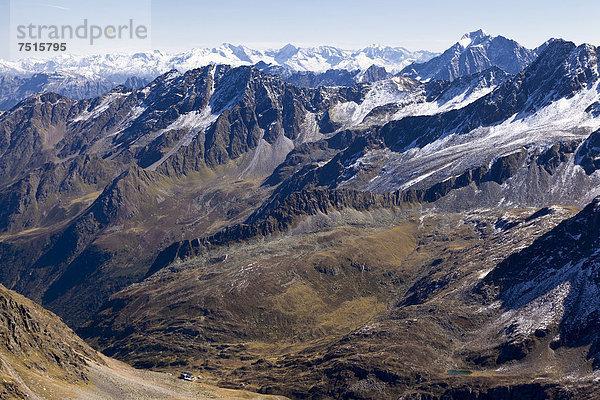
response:
<path fill-rule="evenodd" d="M 547 45 L 529 50 L 483 30 L 465 34 L 443 54 L 372 45 L 359 50 L 332 46 L 254 50 L 223 44 L 178 54 L 160 51 L 102 56 L 64 55 L 53 59 L 0 60 L 0 110 L 36 92 L 53 91 L 73 99 L 100 96 L 117 85 L 140 88 L 172 69 L 210 65 L 256 65 L 300 87 L 348 86 L 402 75 L 418 80 L 454 80 L 498 67 L 515 74 Z"/>

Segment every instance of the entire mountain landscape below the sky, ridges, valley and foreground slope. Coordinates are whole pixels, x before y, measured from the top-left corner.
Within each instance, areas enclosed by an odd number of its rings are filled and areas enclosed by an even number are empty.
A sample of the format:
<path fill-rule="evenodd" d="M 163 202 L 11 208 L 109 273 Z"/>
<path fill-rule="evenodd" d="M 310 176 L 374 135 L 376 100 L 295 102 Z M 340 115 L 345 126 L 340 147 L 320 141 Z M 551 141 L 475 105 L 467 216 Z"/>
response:
<path fill-rule="evenodd" d="M 1 396 L 600 398 L 599 52 L 3 61 Z"/>

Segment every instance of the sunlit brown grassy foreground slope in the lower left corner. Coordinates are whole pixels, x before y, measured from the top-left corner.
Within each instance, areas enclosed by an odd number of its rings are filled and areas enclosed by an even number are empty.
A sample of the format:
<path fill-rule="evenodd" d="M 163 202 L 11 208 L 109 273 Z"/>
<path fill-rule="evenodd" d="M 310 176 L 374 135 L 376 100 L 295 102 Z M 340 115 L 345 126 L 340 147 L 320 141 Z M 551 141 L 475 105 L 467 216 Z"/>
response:
<path fill-rule="evenodd" d="M 267 399 L 134 370 L 91 349 L 54 314 L 0 286 L 2 399 Z"/>

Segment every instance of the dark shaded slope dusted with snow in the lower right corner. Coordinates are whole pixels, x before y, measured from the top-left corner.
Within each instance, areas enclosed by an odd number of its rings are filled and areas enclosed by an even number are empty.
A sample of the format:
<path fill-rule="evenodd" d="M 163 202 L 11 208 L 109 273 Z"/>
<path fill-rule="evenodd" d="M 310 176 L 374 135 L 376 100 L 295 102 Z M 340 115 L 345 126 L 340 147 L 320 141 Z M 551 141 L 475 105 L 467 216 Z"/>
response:
<path fill-rule="evenodd" d="M 478 287 L 500 299 L 507 314 L 520 314 L 506 333 L 506 358 L 527 356 L 536 347 L 532 338 L 548 336 L 552 349 L 591 345 L 587 357 L 600 365 L 599 202 L 504 260 Z M 540 314 L 538 324 L 526 322 L 532 313 Z"/>

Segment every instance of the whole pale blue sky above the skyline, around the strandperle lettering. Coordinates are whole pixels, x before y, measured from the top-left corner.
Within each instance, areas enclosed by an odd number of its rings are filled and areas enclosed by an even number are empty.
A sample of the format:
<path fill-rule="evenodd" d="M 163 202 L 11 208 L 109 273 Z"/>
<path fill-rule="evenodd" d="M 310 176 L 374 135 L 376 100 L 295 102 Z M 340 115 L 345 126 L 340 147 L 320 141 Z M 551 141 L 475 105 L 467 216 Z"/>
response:
<path fill-rule="evenodd" d="M 483 28 L 536 47 L 550 37 L 600 45 L 599 1 L 357 1 L 357 0 L 0 0 L 0 56 L 14 46 L 16 20 L 99 24 L 136 18 L 148 22 L 142 42 L 81 46 L 78 52 L 183 51 L 223 42 L 256 48 L 330 44 L 359 48 L 378 43 L 442 51 L 463 33 Z M 11 15 L 11 17 L 8 17 Z M 12 20 L 10 19 L 12 18 Z M 115 23 L 117 23 L 115 22 Z M 10 31 L 10 32 L 9 32 Z M 116 46 L 116 47 L 115 47 Z M 14 50 L 14 49 L 13 49 Z"/>

